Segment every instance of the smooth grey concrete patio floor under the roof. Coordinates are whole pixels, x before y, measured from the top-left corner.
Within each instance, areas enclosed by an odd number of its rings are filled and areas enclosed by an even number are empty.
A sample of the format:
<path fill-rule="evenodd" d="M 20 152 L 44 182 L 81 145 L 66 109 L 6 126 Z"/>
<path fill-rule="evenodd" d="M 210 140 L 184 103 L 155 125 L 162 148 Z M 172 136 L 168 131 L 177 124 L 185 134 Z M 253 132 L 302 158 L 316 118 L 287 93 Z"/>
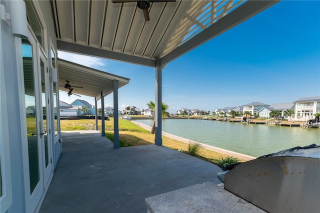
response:
<path fill-rule="evenodd" d="M 62 153 L 39 212 L 146 212 L 146 197 L 220 183 L 218 166 L 165 146 L 114 149 L 99 131 L 61 135 Z"/>

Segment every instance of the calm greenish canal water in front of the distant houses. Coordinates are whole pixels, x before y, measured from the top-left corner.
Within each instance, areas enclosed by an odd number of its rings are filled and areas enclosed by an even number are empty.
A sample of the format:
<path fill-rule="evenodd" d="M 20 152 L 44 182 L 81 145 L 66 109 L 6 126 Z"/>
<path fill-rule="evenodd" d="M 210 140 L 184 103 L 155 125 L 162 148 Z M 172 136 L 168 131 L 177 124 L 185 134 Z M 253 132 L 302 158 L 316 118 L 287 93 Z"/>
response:
<path fill-rule="evenodd" d="M 153 123 L 152 119 L 135 121 L 147 125 Z M 162 119 L 162 131 L 255 157 L 294 146 L 320 144 L 320 129 L 298 126 L 199 119 Z"/>

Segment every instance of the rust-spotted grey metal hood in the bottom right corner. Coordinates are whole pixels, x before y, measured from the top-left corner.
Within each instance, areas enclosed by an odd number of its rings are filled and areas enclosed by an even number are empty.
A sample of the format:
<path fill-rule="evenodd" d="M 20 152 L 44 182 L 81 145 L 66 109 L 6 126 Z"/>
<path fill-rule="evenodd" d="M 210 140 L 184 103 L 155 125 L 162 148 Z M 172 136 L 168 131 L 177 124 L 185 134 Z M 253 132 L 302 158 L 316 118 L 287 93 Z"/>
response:
<path fill-rule="evenodd" d="M 318 212 L 320 146 L 238 164 L 224 188 L 268 212 Z"/>

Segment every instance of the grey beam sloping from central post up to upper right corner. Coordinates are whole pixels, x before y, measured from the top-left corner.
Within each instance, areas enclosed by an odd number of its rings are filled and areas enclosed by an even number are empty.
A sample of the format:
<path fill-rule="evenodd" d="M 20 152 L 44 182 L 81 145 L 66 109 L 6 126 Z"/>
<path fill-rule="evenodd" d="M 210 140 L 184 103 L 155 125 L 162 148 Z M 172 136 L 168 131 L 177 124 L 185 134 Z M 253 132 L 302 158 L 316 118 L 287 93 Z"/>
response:
<path fill-rule="evenodd" d="M 176 47 L 171 52 L 160 58 L 160 65 L 165 66 L 168 62 L 181 56 L 182 54 L 194 49 L 211 38 L 227 31 L 233 26 L 245 21 L 255 14 L 279 2 L 279 0 L 249 0 L 235 8 L 220 20 L 207 27 L 203 31 L 190 38 L 185 43 Z"/>

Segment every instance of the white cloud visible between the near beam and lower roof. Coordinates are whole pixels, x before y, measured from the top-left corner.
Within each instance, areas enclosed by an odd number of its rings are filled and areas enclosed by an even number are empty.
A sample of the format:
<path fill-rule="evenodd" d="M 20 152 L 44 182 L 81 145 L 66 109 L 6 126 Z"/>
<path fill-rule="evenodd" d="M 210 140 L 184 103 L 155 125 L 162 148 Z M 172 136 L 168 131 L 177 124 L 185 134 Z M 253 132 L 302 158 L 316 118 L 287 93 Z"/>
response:
<path fill-rule="evenodd" d="M 87 55 L 74 54 L 70 52 L 58 51 L 58 57 L 74 63 L 78 63 L 88 67 L 105 66 L 106 60 L 97 57 L 91 57 Z"/>

